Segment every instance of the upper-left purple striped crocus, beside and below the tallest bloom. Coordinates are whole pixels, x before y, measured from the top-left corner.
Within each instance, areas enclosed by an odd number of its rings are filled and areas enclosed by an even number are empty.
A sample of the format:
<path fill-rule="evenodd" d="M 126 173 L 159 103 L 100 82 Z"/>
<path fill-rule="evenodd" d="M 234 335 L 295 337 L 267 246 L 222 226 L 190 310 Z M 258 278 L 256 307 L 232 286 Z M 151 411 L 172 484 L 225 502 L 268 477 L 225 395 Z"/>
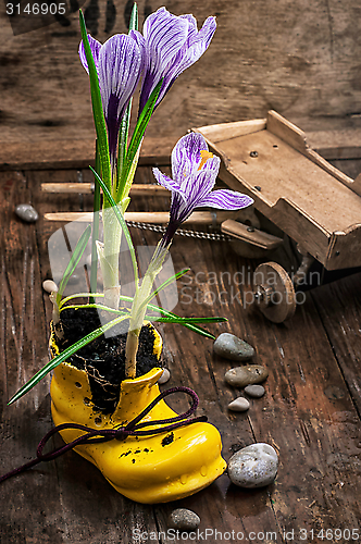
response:
<path fill-rule="evenodd" d="M 88 38 L 98 72 L 108 128 L 109 152 L 114 169 L 121 121 L 144 69 L 142 50 L 132 36 L 125 34 L 116 34 L 103 45 L 90 35 Z M 79 57 L 83 66 L 89 73 L 83 41 L 79 46 Z"/>

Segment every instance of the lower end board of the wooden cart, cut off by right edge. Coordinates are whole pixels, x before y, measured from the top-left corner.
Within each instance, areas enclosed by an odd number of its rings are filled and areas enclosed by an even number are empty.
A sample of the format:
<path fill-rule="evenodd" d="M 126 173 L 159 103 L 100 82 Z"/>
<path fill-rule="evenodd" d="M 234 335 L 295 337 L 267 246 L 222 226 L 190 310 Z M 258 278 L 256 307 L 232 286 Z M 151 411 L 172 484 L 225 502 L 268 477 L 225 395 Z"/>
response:
<path fill-rule="evenodd" d="M 361 224 L 352 225 L 346 232 L 335 232 L 329 240 L 325 267 L 339 270 L 361 264 Z"/>

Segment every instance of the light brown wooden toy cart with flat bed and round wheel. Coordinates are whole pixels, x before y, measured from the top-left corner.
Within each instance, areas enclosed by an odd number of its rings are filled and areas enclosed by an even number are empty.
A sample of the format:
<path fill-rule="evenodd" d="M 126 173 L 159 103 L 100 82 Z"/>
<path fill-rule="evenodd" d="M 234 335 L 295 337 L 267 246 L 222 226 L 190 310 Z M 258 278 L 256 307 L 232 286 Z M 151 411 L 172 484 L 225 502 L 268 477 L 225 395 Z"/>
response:
<path fill-rule="evenodd" d="M 327 271 L 361 267 L 361 175 L 354 181 L 310 149 L 297 126 L 274 111 L 265 120 L 195 128 L 222 159 L 220 178 L 254 199 L 254 208 L 298 244 L 300 272 L 315 259 Z M 222 231 L 256 248 L 282 238 L 234 220 Z M 275 262 L 258 267 L 254 296 L 274 322 L 296 309 L 295 286 Z"/>

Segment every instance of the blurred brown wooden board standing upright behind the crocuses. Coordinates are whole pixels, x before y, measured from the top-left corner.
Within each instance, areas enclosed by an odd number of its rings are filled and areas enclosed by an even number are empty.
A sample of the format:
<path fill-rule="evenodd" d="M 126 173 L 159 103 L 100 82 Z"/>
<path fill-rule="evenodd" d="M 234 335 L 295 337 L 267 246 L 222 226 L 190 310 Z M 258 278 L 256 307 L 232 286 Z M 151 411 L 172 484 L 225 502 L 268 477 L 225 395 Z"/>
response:
<path fill-rule="evenodd" d="M 25 3 L 22 0 L 21 5 Z M 100 41 L 126 32 L 132 3 L 87 0 L 83 9 L 89 30 Z M 175 14 L 192 13 L 199 26 L 208 15 L 217 20 L 209 50 L 178 78 L 155 112 L 145 152 L 171 148 L 192 126 L 262 118 L 270 109 L 309 132 L 315 147 L 320 137 L 329 138 L 329 131 L 336 131 L 334 139 L 339 144 L 344 139 L 345 145 L 345 131 L 350 129 L 353 145 L 359 146 L 361 7 L 357 0 L 140 0 L 138 4 L 140 26 L 145 16 L 164 4 Z M 77 0 L 67 5 L 75 10 Z M 13 23 L 14 29 L 36 27 L 29 17 L 23 15 L 17 26 Z M 14 35 L 10 17 L 1 11 L 0 162 L 14 152 L 17 158 L 51 156 L 60 152 L 59 147 L 72 154 L 74 141 L 78 147 L 79 140 L 92 146 L 88 77 L 77 55 L 77 13 L 52 21 Z M 58 140 L 62 146 L 49 144 Z"/>

